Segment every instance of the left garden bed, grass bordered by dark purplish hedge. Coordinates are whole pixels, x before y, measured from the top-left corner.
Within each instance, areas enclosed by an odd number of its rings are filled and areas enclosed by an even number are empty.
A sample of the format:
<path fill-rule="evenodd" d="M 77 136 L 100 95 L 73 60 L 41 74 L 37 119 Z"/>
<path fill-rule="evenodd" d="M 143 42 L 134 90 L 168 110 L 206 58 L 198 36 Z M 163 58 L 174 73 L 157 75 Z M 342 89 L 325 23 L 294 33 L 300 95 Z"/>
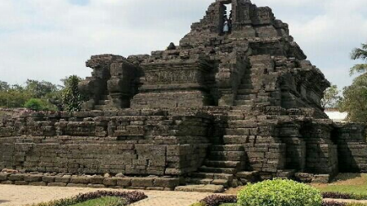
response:
<path fill-rule="evenodd" d="M 138 191 L 97 191 L 28 206 L 126 206 L 145 198 L 147 196 L 143 192 Z"/>

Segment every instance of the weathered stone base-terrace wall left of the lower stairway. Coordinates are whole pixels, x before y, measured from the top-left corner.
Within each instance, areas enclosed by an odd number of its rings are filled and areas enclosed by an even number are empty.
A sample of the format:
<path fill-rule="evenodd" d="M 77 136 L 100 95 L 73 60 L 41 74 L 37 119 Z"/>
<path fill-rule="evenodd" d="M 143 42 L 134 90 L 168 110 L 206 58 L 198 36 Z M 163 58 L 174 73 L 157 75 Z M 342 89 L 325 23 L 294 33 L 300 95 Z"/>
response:
<path fill-rule="evenodd" d="M 195 171 L 210 116 L 163 110 L 32 114 L 0 122 L 0 168 L 179 175 Z"/>

